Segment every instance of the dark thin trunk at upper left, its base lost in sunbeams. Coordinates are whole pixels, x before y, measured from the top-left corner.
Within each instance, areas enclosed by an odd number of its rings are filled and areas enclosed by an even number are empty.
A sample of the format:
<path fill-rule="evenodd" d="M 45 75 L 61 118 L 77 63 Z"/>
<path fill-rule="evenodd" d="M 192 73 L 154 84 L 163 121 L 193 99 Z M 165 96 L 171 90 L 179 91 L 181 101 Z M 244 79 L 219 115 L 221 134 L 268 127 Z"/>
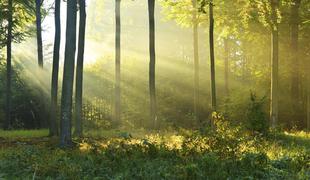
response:
<path fill-rule="evenodd" d="M 36 25 L 37 25 L 37 51 L 38 64 L 43 68 L 42 26 L 41 26 L 41 0 L 36 0 Z"/>

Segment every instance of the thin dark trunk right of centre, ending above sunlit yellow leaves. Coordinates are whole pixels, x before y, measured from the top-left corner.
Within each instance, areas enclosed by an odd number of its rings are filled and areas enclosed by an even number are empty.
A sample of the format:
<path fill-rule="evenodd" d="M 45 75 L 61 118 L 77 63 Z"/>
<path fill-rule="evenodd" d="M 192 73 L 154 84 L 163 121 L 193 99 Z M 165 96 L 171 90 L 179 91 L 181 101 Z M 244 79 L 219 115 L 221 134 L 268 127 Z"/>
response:
<path fill-rule="evenodd" d="M 216 111 L 216 89 L 215 89 L 215 59 L 214 59 L 214 18 L 213 18 L 213 1 L 209 4 L 209 43 L 210 43 L 210 69 L 211 69 L 211 105 L 212 111 Z"/>

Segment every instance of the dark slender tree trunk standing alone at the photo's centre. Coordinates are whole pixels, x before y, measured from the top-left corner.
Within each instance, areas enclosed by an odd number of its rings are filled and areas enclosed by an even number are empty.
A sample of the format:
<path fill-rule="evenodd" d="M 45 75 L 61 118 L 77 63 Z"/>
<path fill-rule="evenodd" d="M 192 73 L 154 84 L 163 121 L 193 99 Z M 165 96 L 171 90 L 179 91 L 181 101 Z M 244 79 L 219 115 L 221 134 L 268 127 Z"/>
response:
<path fill-rule="evenodd" d="M 155 90 L 155 0 L 148 0 L 149 11 L 149 51 L 150 51 L 150 64 L 149 64 L 149 88 L 150 88 L 150 107 L 151 107 L 151 120 L 153 127 L 158 128 L 157 112 L 156 112 L 156 90 Z"/>

